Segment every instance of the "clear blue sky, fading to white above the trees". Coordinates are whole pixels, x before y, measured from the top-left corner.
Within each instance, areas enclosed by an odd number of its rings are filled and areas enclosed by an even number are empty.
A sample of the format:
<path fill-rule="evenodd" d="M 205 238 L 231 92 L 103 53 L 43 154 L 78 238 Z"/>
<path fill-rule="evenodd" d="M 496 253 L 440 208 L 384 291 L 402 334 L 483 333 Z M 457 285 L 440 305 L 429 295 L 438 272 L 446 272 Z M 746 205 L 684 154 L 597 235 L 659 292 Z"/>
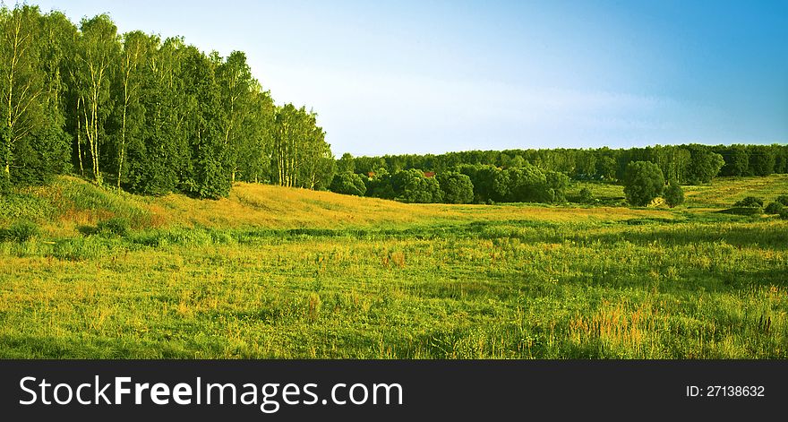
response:
<path fill-rule="evenodd" d="M 788 142 L 788 0 L 30 3 L 243 50 L 337 156 Z"/>

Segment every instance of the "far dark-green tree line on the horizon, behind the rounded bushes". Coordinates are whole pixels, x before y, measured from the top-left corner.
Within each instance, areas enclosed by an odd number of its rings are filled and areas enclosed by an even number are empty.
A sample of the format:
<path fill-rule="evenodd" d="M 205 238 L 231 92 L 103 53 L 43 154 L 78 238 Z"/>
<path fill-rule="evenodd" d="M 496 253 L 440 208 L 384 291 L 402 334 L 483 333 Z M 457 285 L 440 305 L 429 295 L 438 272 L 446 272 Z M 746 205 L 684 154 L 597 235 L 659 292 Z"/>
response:
<path fill-rule="evenodd" d="M 338 170 L 359 174 L 390 174 L 419 168 L 441 172 L 462 165 L 517 168 L 526 162 L 559 171 L 574 180 L 623 179 L 631 161 L 651 161 L 665 177 L 681 184 L 707 183 L 716 176 L 768 176 L 788 173 L 788 145 L 655 145 L 645 148 L 539 149 L 505 151 L 456 151 L 444 154 L 404 154 L 338 159 Z"/>

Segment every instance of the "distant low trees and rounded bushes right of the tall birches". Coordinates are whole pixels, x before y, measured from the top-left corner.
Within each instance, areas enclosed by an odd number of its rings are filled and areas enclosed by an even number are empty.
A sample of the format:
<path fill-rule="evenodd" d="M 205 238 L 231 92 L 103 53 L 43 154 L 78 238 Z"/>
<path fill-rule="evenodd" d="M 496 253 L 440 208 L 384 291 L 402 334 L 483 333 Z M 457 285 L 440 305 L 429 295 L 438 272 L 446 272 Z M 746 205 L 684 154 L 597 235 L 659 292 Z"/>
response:
<path fill-rule="evenodd" d="M 698 185 L 717 176 L 788 173 L 788 145 L 686 144 L 382 157 L 344 154 L 337 160 L 338 175 L 330 188 L 404 202 L 562 202 L 570 179 L 628 185 L 630 165 L 638 162 L 653 164 L 649 168 L 659 173 L 663 185 Z M 456 193 L 458 189 L 462 194 Z"/>

